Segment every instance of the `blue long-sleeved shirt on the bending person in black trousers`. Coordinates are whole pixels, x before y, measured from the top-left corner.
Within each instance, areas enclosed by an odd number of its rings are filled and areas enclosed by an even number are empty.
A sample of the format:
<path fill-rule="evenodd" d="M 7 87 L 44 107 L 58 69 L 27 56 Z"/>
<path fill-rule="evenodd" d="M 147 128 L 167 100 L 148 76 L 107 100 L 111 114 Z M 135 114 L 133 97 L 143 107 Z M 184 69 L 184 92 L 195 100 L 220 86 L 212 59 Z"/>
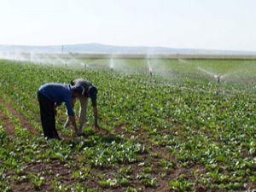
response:
<path fill-rule="evenodd" d="M 55 102 L 56 105 L 61 105 L 62 102 L 65 102 L 67 114 L 74 116 L 73 90 L 69 84 L 44 84 L 39 88 L 39 92 L 46 96 L 50 102 Z"/>

